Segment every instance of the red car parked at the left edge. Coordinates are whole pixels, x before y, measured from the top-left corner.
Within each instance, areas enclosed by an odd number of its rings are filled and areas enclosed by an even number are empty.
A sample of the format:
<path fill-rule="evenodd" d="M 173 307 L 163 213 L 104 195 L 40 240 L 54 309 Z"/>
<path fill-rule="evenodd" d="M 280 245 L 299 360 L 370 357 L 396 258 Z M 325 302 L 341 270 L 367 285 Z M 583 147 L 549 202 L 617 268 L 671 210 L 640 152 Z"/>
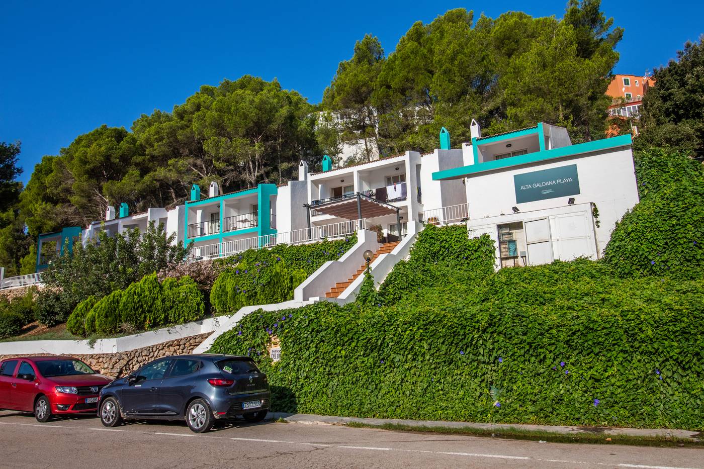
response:
<path fill-rule="evenodd" d="M 98 394 L 112 380 L 70 356 L 31 356 L 0 361 L 0 409 L 54 415 L 96 413 Z"/>

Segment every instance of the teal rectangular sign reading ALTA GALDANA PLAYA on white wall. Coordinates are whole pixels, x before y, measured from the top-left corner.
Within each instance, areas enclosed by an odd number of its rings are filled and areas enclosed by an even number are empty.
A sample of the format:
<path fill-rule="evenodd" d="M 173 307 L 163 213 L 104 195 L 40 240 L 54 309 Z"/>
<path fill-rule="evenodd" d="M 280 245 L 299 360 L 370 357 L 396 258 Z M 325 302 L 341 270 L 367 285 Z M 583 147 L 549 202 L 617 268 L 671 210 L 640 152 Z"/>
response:
<path fill-rule="evenodd" d="M 513 185 L 517 204 L 579 194 L 577 165 L 517 174 Z"/>

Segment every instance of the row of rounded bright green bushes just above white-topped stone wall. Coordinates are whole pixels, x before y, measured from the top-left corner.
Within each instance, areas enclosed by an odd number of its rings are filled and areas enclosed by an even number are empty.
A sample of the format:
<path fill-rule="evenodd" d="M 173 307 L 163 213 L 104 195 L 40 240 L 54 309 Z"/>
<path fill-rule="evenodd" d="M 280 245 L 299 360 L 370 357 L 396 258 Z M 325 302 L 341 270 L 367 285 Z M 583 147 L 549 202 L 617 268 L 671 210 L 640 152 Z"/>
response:
<path fill-rule="evenodd" d="M 167 278 L 160 284 L 152 273 L 102 299 L 89 296 L 81 301 L 66 328 L 75 335 L 109 335 L 190 323 L 204 314 L 203 294 L 190 277 Z"/>

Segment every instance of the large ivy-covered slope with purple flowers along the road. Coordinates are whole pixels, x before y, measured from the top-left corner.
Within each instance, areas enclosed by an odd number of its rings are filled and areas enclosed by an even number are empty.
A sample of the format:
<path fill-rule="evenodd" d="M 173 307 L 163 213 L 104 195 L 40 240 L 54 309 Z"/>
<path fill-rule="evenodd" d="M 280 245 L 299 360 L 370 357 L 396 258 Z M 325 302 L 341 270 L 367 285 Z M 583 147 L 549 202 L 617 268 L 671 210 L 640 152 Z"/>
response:
<path fill-rule="evenodd" d="M 382 306 L 260 311 L 210 351 L 254 356 L 277 411 L 701 427 L 702 282 L 621 279 L 586 260 L 491 273 L 486 237 L 465 235 L 464 249 L 442 254 L 460 232 L 427 227 L 389 277 L 395 291 L 382 288 Z M 436 263 L 413 273 L 424 253 Z M 413 281 L 394 279 L 402 272 Z M 273 336 L 277 363 L 267 353 Z"/>

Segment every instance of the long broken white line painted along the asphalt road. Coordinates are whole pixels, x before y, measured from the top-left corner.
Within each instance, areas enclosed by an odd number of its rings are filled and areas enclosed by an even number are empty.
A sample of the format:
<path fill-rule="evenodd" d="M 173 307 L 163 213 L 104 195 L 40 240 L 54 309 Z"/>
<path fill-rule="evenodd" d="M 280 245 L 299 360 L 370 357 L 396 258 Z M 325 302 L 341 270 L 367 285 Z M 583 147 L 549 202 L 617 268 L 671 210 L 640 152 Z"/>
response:
<path fill-rule="evenodd" d="M 112 432 L 128 432 L 128 433 L 139 433 L 139 434 L 159 434 L 166 435 L 170 437 L 201 437 L 210 439 L 230 439 L 234 441 L 243 442 L 259 442 L 259 443 L 282 443 L 282 444 L 299 444 L 304 446 L 323 446 L 327 448 L 341 448 L 341 449 L 361 449 L 365 451 L 398 451 L 405 453 L 423 453 L 423 454 L 444 454 L 448 456 L 465 456 L 471 458 L 499 458 L 499 459 L 517 459 L 522 461 L 541 461 L 546 463 L 563 463 L 563 464 L 587 464 L 587 465 L 607 465 L 610 467 L 618 468 L 632 468 L 632 469 L 700 469 L 700 468 L 682 468 L 676 466 L 666 466 L 666 465 L 642 465 L 642 464 L 628 464 L 628 463 L 590 463 L 587 461 L 564 461 L 561 459 L 546 459 L 546 458 L 532 458 L 530 456 L 510 456 L 504 454 L 482 454 L 482 453 L 463 453 L 455 451 L 429 451 L 422 449 L 396 449 L 396 448 L 386 448 L 377 446 L 341 446 L 336 444 L 325 444 L 325 443 L 313 443 L 313 442 L 291 442 L 281 439 L 262 439 L 262 438 L 242 438 L 242 437 L 218 437 L 215 435 L 204 435 L 195 433 L 168 433 L 168 432 L 147 432 L 143 430 L 122 430 L 122 429 L 111 429 L 111 428 L 97 428 L 97 427 L 75 427 L 68 425 L 42 425 L 37 423 L 15 423 L 15 422 L 0 422 L 0 425 L 21 425 L 24 427 L 40 427 L 40 428 L 68 428 L 73 430 L 104 430 Z"/>

